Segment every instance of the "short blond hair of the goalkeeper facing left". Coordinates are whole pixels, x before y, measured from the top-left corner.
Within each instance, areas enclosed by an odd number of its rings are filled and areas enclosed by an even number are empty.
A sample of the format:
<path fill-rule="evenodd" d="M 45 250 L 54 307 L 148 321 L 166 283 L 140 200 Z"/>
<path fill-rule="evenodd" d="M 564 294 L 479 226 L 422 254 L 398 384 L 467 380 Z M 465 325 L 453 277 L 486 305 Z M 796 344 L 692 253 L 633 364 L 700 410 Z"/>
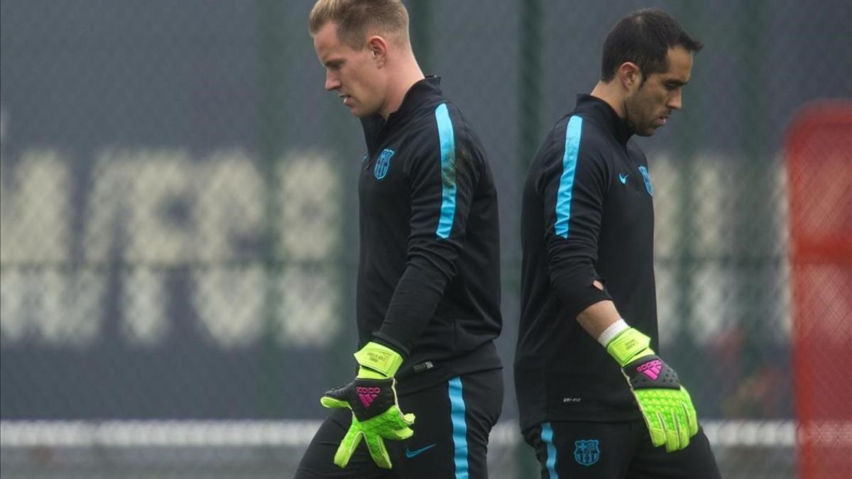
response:
<path fill-rule="evenodd" d="M 355 49 L 366 44 L 370 31 L 408 44 L 408 10 L 400 0 L 319 0 L 308 14 L 312 36 L 328 22 L 337 25 L 337 37 Z"/>

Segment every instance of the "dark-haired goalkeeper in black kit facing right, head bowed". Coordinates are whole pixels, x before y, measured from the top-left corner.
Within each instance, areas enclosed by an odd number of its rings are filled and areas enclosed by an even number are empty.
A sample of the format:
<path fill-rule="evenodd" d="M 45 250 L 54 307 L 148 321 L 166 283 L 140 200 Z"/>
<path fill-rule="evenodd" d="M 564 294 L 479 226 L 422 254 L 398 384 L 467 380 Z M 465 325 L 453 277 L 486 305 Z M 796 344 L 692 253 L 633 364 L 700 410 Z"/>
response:
<path fill-rule="evenodd" d="M 681 108 L 700 49 L 659 10 L 620 20 L 601 80 L 528 172 L 515 390 L 543 479 L 719 476 L 687 390 L 657 355 L 653 186 L 630 139 Z"/>

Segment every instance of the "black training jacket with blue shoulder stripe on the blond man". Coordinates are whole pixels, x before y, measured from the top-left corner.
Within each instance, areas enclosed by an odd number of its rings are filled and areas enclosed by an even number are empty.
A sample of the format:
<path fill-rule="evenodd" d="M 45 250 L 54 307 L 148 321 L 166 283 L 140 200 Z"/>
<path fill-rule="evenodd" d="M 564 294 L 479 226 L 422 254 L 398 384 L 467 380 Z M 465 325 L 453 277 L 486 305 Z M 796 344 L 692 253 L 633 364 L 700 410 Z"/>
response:
<path fill-rule="evenodd" d="M 479 139 L 437 77 L 361 123 L 360 346 L 405 357 L 400 394 L 501 367 L 497 193 Z"/>

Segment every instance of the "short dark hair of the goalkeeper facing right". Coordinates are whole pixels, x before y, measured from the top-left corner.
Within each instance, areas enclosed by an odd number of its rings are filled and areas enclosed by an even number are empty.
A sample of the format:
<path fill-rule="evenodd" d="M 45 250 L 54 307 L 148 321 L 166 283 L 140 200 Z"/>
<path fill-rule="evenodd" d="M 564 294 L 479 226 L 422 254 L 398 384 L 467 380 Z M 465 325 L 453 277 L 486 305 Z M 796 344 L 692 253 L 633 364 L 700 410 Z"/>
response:
<path fill-rule="evenodd" d="M 637 10 L 619 20 L 607 34 L 603 43 L 601 79 L 611 81 L 625 61 L 639 66 L 642 81 L 652 73 L 665 72 L 669 67 L 666 55 L 669 49 L 677 46 L 693 53 L 704 47 L 664 11 Z"/>

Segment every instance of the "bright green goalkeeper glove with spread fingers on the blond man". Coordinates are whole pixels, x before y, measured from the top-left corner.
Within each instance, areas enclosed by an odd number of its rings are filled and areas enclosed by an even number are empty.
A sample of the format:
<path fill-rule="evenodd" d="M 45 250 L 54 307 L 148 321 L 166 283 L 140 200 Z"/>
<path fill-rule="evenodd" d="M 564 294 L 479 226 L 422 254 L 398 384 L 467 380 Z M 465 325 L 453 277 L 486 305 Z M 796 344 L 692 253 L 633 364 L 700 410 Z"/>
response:
<path fill-rule="evenodd" d="M 400 441 L 414 434 L 414 414 L 403 414 L 396 400 L 394 374 L 402 356 L 379 343 L 367 343 L 355 353 L 360 368 L 355 380 L 342 388 L 325 391 L 320 403 L 325 407 L 348 407 L 352 425 L 334 454 L 334 464 L 346 467 L 363 439 L 373 462 L 390 469 L 385 439 Z"/>

